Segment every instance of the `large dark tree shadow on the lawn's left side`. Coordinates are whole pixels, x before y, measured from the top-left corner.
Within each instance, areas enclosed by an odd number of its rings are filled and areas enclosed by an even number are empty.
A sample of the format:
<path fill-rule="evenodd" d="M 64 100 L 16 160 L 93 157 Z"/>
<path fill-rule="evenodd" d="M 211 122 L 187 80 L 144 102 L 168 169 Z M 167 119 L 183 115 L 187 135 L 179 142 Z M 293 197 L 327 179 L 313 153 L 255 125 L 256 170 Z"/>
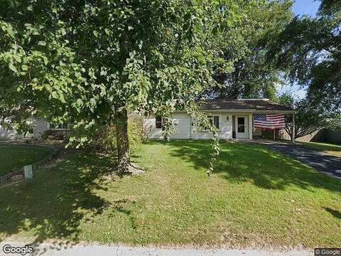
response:
<path fill-rule="evenodd" d="M 94 190 L 106 189 L 101 180 L 113 165 L 108 156 L 77 154 L 36 171 L 30 182 L 0 188 L 0 238 L 27 231 L 33 243 L 77 242 L 81 221 L 109 207 Z"/>

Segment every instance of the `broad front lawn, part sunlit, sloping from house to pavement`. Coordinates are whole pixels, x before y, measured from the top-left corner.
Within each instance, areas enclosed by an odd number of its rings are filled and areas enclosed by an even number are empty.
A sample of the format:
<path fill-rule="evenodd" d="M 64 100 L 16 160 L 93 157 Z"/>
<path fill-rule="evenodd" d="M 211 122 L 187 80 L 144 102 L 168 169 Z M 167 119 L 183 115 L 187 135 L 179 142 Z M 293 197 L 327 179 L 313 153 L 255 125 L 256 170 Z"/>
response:
<path fill-rule="evenodd" d="M 341 247 L 341 181 L 257 144 L 148 142 L 139 176 L 104 179 L 114 159 L 81 154 L 1 188 L 9 237 L 129 245 Z"/>

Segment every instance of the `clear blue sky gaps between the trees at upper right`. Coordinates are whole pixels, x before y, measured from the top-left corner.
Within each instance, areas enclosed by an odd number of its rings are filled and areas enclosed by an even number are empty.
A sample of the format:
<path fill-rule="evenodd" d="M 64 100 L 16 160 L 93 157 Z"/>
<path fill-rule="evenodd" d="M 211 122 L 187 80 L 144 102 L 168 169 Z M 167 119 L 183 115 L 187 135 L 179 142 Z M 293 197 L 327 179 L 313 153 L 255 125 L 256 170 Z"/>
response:
<path fill-rule="evenodd" d="M 320 6 L 320 1 L 315 0 L 296 0 L 293 4 L 293 13 L 299 16 L 308 15 L 315 16 L 318 7 Z M 278 93 L 281 94 L 283 92 L 292 92 L 293 96 L 298 98 L 305 97 L 305 89 L 299 87 L 298 85 L 286 85 L 278 88 Z"/>

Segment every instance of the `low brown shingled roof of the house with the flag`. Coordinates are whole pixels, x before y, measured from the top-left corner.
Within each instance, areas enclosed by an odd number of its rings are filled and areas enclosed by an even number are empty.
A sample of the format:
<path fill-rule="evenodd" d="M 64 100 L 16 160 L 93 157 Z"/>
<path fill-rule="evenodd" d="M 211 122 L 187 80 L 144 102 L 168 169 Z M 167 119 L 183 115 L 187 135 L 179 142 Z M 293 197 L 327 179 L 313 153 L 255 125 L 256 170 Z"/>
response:
<path fill-rule="evenodd" d="M 247 111 L 283 111 L 293 112 L 293 108 L 286 107 L 268 99 L 222 99 L 198 102 L 200 110 L 247 110 Z"/>

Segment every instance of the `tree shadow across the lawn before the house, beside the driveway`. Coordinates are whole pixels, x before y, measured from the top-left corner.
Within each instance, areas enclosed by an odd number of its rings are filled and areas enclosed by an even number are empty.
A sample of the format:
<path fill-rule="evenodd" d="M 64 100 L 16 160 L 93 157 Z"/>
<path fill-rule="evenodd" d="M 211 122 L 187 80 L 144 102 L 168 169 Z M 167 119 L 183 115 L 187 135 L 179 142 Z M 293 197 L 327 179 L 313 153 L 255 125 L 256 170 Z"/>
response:
<path fill-rule="evenodd" d="M 210 164 L 210 141 L 151 141 L 148 144 L 171 146 L 173 156 L 192 164 L 196 170 L 207 169 Z M 265 146 L 221 142 L 220 149 L 213 172 L 222 174 L 230 182 L 252 182 L 259 188 L 266 189 L 283 190 L 288 186 L 297 186 L 304 189 L 325 188 L 339 193 L 341 191 L 341 181 Z"/>

